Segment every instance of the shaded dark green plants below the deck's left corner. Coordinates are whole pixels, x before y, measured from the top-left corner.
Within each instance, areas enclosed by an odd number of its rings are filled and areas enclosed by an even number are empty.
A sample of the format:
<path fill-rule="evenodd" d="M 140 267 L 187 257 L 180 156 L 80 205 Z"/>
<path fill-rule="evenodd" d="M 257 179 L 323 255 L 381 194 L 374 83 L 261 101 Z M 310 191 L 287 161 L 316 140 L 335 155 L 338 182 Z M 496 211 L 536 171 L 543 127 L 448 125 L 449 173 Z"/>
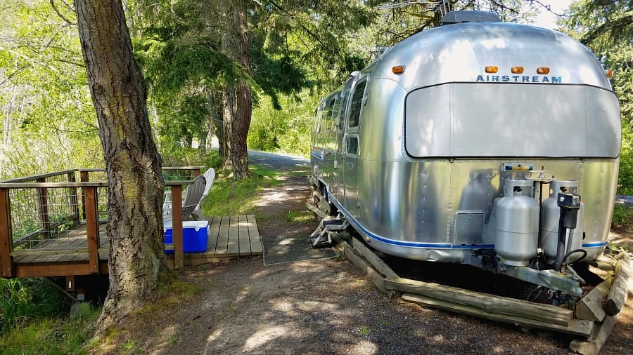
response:
<path fill-rule="evenodd" d="M 44 279 L 0 279 L 0 333 L 59 316 L 68 306 L 68 298 Z"/>

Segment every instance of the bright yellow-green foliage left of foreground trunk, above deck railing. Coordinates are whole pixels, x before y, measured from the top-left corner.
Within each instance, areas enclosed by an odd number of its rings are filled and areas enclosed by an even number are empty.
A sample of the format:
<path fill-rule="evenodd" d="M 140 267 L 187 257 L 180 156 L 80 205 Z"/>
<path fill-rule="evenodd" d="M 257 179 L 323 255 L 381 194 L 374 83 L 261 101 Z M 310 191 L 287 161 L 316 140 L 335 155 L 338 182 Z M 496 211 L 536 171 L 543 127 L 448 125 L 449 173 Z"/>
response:
<path fill-rule="evenodd" d="M 77 29 L 50 1 L 9 5 L 0 36 L 0 179 L 102 166 Z M 75 20 L 72 6 L 58 11 Z"/>

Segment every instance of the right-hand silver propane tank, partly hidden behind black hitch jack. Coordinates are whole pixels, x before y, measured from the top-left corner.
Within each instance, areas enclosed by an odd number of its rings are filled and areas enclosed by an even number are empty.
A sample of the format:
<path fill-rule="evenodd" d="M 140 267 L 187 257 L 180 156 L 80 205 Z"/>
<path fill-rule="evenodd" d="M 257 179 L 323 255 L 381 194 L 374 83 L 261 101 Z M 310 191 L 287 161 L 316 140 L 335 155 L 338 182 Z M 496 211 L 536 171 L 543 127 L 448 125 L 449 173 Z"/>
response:
<path fill-rule="evenodd" d="M 561 208 L 558 207 L 556 198 L 558 192 L 577 194 L 577 180 L 563 181 L 552 180 L 549 185 L 549 197 L 544 199 L 541 205 L 541 227 L 539 232 L 539 248 L 543 249 L 545 258 L 550 264 L 556 260 L 556 246 L 558 244 L 558 218 L 561 215 Z M 584 221 L 584 204 L 580 202 L 578 210 L 578 220 L 574 229 L 571 245 L 567 245 L 566 250 L 576 250 L 582 248 L 582 229 Z M 571 255 L 567 262 L 575 262 L 582 253 Z"/>

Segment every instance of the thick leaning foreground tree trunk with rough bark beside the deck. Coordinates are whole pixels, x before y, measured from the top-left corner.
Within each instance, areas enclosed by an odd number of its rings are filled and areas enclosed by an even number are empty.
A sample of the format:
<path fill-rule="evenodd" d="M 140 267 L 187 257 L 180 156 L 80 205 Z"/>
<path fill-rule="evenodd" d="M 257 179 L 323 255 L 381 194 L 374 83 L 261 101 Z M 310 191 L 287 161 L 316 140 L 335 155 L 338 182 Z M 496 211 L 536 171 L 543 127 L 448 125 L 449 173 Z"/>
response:
<path fill-rule="evenodd" d="M 110 288 L 98 335 L 158 295 L 158 276 L 167 269 L 164 182 L 121 0 L 75 0 L 75 6 L 109 182 Z"/>

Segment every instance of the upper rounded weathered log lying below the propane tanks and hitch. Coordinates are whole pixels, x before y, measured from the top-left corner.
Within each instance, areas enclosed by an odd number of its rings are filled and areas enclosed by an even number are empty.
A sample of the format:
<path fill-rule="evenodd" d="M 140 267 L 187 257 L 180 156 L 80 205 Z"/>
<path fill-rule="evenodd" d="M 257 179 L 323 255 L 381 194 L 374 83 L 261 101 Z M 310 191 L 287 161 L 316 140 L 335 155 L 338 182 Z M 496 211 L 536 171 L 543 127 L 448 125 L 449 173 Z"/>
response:
<path fill-rule="evenodd" d="M 524 319 L 524 323 L 535 321 L 539 323 L 551 323 L 557 326 L 568 326 L 573 312 L 569 309 L 538 304 L 523 300 L 515 300 L 509 297 L 500 297 L 487 293 L 478 293 L 471 290 L 463 290 L 438 283 L 428 283 L 409 279 L 385 279 L 385 287 L 392 290 L 400 290 L 406 293 L 425 295 L 436 300 L 461 304 L 466 307 L 480 309 L 482 315 L 496 314 L 496 318 L 503 319 L 511 316 L 513 319 Z M 469 309 L 470 309 L 469 308 Z M 459 309 L 459 308 L 456 308 Z M 473 312 L 469 312 L 471 314 Z"/>

